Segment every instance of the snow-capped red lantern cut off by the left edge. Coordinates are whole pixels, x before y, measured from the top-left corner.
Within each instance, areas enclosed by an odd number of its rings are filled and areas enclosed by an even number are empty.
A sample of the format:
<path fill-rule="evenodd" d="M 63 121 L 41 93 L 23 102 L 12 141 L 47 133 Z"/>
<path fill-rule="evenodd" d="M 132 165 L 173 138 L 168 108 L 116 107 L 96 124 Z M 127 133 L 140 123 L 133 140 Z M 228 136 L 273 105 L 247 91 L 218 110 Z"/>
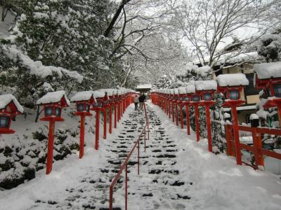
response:
<path fill-rule="evenodd" d="M 23 113 L 22 106 L 12 94 L 0 95 L 0 134 L 13 134 L 11 130 L 11 120 Z"/>

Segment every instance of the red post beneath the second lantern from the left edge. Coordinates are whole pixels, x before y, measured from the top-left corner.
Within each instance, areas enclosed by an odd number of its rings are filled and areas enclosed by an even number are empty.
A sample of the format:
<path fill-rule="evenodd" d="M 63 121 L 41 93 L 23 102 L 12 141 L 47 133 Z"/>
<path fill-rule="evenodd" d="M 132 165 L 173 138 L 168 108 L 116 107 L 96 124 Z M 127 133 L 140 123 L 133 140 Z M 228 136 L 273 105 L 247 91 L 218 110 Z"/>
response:
<path fill-rule="evenodd" d="M 53 134 L 55 131 L 55 121 L 50 120 L 48 127 L 48 154 L 47 154 L 47 165 L 46 174 L 50 174 L 53 168 Z"/>

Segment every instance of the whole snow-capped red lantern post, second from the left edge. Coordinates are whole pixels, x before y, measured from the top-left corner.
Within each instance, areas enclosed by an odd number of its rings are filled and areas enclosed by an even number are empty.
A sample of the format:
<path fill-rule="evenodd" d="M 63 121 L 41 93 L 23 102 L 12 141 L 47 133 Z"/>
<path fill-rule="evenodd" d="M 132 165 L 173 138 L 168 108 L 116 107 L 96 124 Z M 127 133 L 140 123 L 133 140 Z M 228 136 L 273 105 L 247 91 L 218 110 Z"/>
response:
<path fill-rule="evenodd" d="M 40 120 L 49 121 L 46 174 L 50 174 L 53 167 L 53 136 L 55 132 L 55 122 L 64 121 L 61 117 L 62 109 L 63 107 L 70 106 L 70 102 L 67 100 L 65 91 L 61 90 L 48 92 L 37 101 L 37 105 L 44 106 L 44 117 L 40 118 Z"/>

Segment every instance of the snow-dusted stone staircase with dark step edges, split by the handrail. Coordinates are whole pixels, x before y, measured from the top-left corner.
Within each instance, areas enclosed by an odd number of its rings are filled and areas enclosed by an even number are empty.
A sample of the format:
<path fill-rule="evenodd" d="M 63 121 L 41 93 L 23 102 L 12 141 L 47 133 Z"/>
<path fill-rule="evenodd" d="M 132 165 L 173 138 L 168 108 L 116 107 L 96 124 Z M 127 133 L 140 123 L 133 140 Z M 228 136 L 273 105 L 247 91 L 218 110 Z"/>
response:
<path fill-rule="evenodd" d="M 137 151 L 129 160 L 129 207 L 130 202 L 140 204 L 141 209 L 184 209 L 182 200 L 189 200 L 183 186 L 192 185 L 177 179 L 180 173 L 173 169 L 176 165 L 177 144 L 170 139 L 162 127 L 161 120 L 155 111 L 148 106 L 150 122 L 150 140 L 147 140 L 144 152 L 141 140 L 141 174 L 137 175 Z M 129 118 L 122 120 L 119 133 L 112 141 L 106 141 L 106 153 L 101 158 L 104 162 L 98 172 L 89 167 L 77 186 L 65 189 L 63 201 L 37 200 L 34 208 L 45 209 L 108 209 L 109 187 L 112 179 L 119 171 L 138 135 L 145 125 L 143 111 L 129 113 Z M 103 141 L 103 140 L 101 140 Z M 115 210 L 124 209 L 124 173 L 117 181 L 114 193 Z"/>

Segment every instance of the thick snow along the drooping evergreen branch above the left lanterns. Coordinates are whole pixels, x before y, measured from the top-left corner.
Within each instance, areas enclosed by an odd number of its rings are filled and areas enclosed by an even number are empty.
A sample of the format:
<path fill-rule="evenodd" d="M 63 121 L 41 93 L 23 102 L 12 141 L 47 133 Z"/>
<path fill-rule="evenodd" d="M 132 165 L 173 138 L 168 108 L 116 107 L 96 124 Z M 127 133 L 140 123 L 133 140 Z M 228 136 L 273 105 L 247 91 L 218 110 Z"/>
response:
<path fill-rule="evenodd" d="M 83 80 L 83 76 L 81 76 L 77 71 L 68 71 L 62 67 L 55 66 L 44 66 L 40 61 L 34 61 L 27 55 L 24 55 L 20 50 L 15 48 L 15 45 L 11 45 L 11 47 L 7 47 L 3 45 L 3 52 L 9 59 L 12 59 L 14 62 L 17 62 L 20 59 L 20 62 L 23 66 L 30 69 L 30 74 L 35 76 L 39 76 L 41 78 L 45 78 L 46 76 L 52 76 L 53 73 L 57 73 L 61 78 L 63 74 L 70 76 L 70 78 L 74 78 L 78 83 L 81 83 Z"/>

